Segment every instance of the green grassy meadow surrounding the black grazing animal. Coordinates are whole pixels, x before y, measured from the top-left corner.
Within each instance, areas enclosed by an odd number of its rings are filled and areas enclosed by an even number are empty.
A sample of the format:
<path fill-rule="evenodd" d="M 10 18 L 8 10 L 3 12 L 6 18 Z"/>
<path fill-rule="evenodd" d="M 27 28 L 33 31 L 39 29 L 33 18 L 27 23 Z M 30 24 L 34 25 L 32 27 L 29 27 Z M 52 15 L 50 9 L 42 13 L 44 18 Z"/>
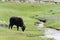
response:
<path fill-rule="evenodd" d="M 52 11 L 51 11 L 52 10 Z M 25 32 L 16 28 L 9 30 L 0 27 L 0 40 L 52 40 L 50 38 L 39 38 L 44 35 L 43 31 L 38 31 L 34 22 L 38 20 L 31 18 L 36 17 L 47 19 L 45 27 L 54 27 L 60 29 L 60 5 L 59 4 L 30 4 L 30 3 L 0 3 L 0 20 L 9 24 L 11 16 L 22 17 L 26 25 Z M 14 26 L 15 27 L 15 26 Z"/>

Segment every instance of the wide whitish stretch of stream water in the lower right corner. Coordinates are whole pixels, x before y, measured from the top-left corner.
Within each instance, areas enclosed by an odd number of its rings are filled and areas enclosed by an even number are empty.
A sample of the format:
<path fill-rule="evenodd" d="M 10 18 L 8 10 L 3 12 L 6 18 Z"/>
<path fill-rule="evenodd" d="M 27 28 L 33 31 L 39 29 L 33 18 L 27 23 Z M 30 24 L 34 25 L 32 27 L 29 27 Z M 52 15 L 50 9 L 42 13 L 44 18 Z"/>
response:
<path fill-rule="evenodd" d="M 60 30 L 52 29 L 52 28 L 45 28 L 44 30 L 44 36 L 45 38 L 53 38 L 54 40 L 60 40 Z"/>

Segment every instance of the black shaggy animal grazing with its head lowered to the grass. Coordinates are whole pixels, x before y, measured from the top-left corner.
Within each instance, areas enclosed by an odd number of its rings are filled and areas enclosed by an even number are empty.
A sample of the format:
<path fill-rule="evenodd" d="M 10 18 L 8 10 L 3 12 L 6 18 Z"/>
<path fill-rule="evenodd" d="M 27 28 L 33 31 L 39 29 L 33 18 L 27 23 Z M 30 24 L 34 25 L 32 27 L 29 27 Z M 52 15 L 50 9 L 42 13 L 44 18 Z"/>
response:
<path fill-rule="evenodd" d="M 10 24 L 9 24 L 9 29 L 13 27 L 13 25 L 16 25 L 17 26 L 17 30 L 19 30 L 19 26 L 21 27 L 22 31 L 25 30 L 25 25 L 24 25 L 24 22 L 23 22 L 23 19 L 20 18 L 20 17 L 11 17 L 10 18 Z"/>

